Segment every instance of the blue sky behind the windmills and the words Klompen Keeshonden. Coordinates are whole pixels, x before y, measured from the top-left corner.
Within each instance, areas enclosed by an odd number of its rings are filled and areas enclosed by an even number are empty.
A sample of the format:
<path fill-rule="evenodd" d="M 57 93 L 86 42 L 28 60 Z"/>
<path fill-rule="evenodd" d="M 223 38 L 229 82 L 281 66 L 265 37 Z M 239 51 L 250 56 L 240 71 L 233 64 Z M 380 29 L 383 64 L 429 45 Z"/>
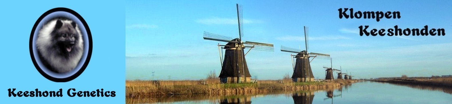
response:
<path fill-rule="evenodd" d="M 303 26 L 309 27 L 309 52 L 330 54 L 333 67 L 354 78 L 452 74 L 452 2 L 311 1 L 311 0 L 128 0 L 126 1 L 126 79 L 199 80 L 221 71 L 217 43 L 203 31 L 238 37 L 235 4 L 243 5 L 244 41 L 273 43 L 274 52 L 246 55 L 251 76 L 259 80 L 292 75 L 289 52 L 280 46 L 304 47 Z M 339 19 L 339 8 L 354 11 L 400 11 L 400 19 Z M 359 36 L 359 26 L 372 28 L 444 28 L 445 36 Z M 302 48 L 303 49 L 303 48 Z M 311 62 L 314 76 L 325 78 Z M 336 76 L 335 76 L 336 77 Z"/>

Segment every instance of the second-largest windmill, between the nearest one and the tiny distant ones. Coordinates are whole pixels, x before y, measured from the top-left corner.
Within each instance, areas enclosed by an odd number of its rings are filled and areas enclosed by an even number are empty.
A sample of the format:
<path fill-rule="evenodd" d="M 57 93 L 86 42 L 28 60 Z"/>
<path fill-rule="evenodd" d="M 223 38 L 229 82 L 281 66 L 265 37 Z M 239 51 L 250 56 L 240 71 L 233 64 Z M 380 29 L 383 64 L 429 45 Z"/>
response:
<path fill-rule="evenodd" d="M 290 55 L 292 58 L 292 68 L 293 68 L 293 74 L 292 74 L 292 81 L 293 82 L 309 82 L 314 80 L 314 75 L 312 74 L 311 70 L 311 61 L 314 60 L 314 58 L 318 59 L 330 59 L 330 55 L 328 54 L 321 54 L 321 53 L 309 53 L 307 50 L 309 49 L 309 28 L 304 27 L 305 31 L 305 46 L 306 50 L 301 51 L 301 49 L 295 49 L 290 47 L 284 47 L 281 46 L 281 51 L 283 52 L 292 52 L 297 53 L 297 55 Z M 311 61 L 309 61 L 310 55 L 313 55 L 313 58 Z M 293 59 L 296 59 L 295 64 Z"/>

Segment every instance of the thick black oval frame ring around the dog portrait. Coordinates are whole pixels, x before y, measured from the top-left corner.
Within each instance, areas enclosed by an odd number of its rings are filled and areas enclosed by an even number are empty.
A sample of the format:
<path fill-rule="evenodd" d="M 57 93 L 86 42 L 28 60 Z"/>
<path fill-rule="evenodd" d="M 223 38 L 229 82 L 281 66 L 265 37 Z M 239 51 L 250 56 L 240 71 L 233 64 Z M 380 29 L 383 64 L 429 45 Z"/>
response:
<path fill-rule="evenodd" d="M 38 63 L 36 62 L 36 59 L 34 58 L 34 53 L 33 53 L 33 36 L 34 36 L 34 32 L 35 32 L 36 28 L 38 27 L 39 22 L 41 22 L 41 20 L 44 19 L 44 17 L 46 17 L 48 14 L 51 14 L 51 13 L 57 12 L 57 11 L 64 11 L 64 12 L 73 14 L 75 17 L 77 17 L 77 19 L 79 19 L 80 22 L 85 26 L 86 34 L 88 35 L 88 41 L 89 41 L 89 45 L 88 45 L 89 49 L 88 49 L 88 54 L 86 56 L 85 63 L 83 63 L 83 65 L 80 67 L 79 71 L 75 72 L 75 74 L 73 74 L 69 77 L 66 77 L 66 78 L 55 78 L 55 77 L 48 75 L 46 72 L 42 71 L 41 67 L 39 67 Z M 93 40 L 91 37 L 91 31 L 89 30 L 88 24 L 86 24 L 85 19 L 83 19 L 80 14 L 78 14 L 74 10 L 68 9 L 68 8 L 54 8 L 54 9 L 50 9 L 50 10 L 46 11 L 44 14 L 42 14 L 38 18 L 38 20 L 36 20 L 36 23 L 34 23 L 34 25 L 33 25 L 33 28 L 31 30 L 31 34 L 30 34 L 30 44 L 29 45 L 30 45 L 29 48 L 30 48 L 31 60 L 33 61 L 33 64 L 36 67 L 36 69 L 39 71 L 39 73 L 41 73 L 42 76 L 44 76 L 48 80 L 52 80 L 54 82 L 68 82 L 68 81 L 74 80 L 75 78 L 80 76 L 80 74 L 83 71 L 85 71 L 85 68 L 88 66 L 89 60 L 91 59 L 91 53 L 93 51 Z"/>

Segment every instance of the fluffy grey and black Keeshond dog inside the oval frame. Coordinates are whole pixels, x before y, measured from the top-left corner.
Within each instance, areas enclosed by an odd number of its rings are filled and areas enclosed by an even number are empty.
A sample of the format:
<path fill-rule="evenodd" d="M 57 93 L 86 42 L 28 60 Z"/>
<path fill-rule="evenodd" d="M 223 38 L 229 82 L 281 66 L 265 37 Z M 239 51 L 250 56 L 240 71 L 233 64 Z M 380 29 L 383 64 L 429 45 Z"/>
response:
<path fill-rule="evenodd" d="M 52 19 L 39 30 L 36 47 L 47 69 L 65 73 L 74 70 L 83 55 L 83 36 L 74 21 Z"/>

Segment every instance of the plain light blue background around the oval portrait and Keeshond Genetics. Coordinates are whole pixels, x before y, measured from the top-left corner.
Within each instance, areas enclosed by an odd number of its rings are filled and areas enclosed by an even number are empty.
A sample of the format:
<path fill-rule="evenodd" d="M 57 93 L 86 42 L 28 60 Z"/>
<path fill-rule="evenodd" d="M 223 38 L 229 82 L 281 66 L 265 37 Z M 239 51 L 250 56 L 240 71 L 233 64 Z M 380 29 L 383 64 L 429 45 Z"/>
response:
<path fill-rule="evenodd" d="M 87 22 L 93 39 L 91 60 L 85 71 L 69 82 L 57 83 L 43 77 L 29 53 L 31 29 L 49 9 L 65 7 L 79 13 Z M 125 103 L 125 15 L 124 1 L 6 1 L 0 3 L 0 66 L 2 103 Z M 57 91 L 63 97 L 8 97 L 17 91 Z M 116 97 L 69 97 L 66 91 L 116 91 Z"/>

